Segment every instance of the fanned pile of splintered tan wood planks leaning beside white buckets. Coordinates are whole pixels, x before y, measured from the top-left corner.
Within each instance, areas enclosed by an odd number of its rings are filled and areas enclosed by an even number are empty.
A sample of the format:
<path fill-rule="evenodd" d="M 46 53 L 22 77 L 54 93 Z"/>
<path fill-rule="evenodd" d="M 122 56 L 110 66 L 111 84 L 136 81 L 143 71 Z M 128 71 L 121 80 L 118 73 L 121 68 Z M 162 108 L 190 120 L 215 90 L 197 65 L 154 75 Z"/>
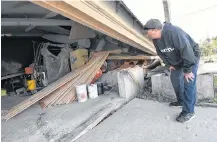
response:
<path fill-rule="evenodd" d="M 96 72 L 107 59 L 108 55 L 109 52 L 94 54 L 90 61 L 83 67 L 65 75 L 48 87 L 32 95 L 30 98 L 14 106 L 2 117 L 2 120 L 9 120 L 39 101 L 42 108 L 73 102 L 76 99 L 75 86 L 89 84 L 95 77 Z"/>

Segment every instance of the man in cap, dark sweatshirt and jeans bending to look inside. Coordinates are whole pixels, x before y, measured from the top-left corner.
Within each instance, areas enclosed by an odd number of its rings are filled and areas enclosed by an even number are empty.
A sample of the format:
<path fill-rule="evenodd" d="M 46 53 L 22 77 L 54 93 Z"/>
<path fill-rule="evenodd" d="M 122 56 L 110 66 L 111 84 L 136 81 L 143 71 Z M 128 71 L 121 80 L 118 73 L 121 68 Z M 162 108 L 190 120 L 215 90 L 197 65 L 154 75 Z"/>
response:
<path fill-rule="evenodd" d="M 176 120 L 186 122 L 195 116 L 199 46 L 181 28 L 170 23 L 161 24 L 158 19 L 149 20 L 144 30 L 153 40 L 158 56 L 170 69 L 177 97 L 177 102 L 170 103 L 170 106 L 182 106 L 182 112 Z"/>

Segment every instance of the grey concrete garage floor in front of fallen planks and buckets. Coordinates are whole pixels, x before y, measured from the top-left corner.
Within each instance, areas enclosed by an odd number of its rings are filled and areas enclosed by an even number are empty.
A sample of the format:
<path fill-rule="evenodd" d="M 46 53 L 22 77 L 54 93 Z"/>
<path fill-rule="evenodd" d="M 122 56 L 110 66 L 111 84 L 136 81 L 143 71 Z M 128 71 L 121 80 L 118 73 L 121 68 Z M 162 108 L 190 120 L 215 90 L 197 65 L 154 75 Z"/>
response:
<path fill-rule="evenodd" d="M 11 98 L 5 99 L 11 101 Z M 2 106 L 10 106 L 2 101 Z M 17 102 L 15 102 L 17 103 Z M 106 106 L 119 106 L 126 100 L 110 92 L 109 95 L 90 99 L 84 103 L 60 105 L 42 110 L 38 104 L 28 108 L 14 118 L 2 122 L 2 138 L 4 142 L 48 142 L 60 139 L 73 132 L 94 114 Z M 119 104 L 119 105 L 117 105 Z"/>

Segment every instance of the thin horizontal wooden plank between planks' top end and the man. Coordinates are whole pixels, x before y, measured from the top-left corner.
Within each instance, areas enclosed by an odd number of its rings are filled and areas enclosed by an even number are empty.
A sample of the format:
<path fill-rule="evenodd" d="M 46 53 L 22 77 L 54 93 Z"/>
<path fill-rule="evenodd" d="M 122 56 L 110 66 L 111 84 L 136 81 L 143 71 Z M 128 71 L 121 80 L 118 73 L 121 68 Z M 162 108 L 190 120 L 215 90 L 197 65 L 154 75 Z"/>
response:
<path fill-rule="evenodd" d="M 108 56 L 108 60 L 152 60 L 159 59 L 158 56 Z"/>

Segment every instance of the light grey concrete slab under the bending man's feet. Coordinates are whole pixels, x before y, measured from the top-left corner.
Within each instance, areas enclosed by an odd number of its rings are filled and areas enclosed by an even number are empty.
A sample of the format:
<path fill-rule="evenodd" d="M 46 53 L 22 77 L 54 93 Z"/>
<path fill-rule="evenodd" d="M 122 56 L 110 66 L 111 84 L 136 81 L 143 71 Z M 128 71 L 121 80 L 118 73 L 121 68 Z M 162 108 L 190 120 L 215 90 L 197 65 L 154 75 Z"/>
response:
<path fill-rule="evenodd" d="M 77 142 L 217 142 L 217 108 L 196 108 L 187 123 L 175 118 L 181 108 L 134 99 Z"/>

